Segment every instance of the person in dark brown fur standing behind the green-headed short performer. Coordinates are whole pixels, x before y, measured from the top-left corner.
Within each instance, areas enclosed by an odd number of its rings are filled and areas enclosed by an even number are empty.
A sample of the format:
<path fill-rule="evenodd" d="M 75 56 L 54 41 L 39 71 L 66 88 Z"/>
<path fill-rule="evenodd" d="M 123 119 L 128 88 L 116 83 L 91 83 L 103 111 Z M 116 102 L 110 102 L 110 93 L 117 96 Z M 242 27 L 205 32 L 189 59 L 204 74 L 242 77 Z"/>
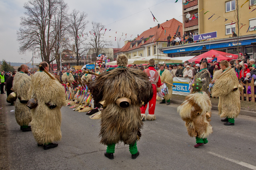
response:
<path fill-rule="evenodd" d="M 198 78 L 206 79 L 206 83 L 204 83 L 204 85 L 202 86 L 202 91 L 208 93 L 208 88 L 210 84 L 210 72 L 207 70 L 207 64 L 204 62 L 200 64 L 200 71 L 196 74 L 194 80 Z"/>

